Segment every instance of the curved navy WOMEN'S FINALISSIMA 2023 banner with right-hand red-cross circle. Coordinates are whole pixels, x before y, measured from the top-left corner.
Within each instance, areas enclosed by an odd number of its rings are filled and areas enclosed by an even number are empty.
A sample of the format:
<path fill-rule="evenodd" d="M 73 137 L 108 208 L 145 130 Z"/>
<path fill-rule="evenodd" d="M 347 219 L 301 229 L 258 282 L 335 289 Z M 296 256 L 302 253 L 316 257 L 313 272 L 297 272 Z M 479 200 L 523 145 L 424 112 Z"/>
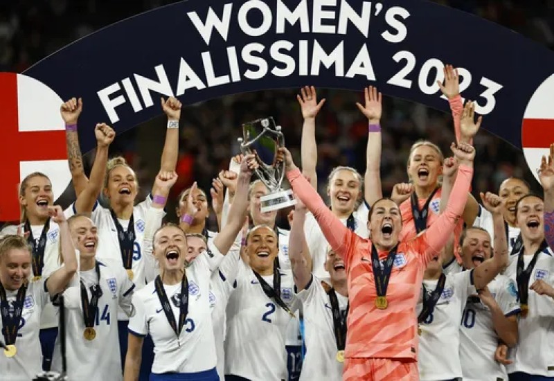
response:
<path fill-rule="evenodd" d="M 436 85 L 444 64 L 459 68 L 485 129 L 535 154 L 554 141 L 554 53 L 427 1 L 185 1 L 98 30 L 24 74 L 62 99 L 84 98 L 81 125 L 120 133 L 161 114 L 159 96 L 187 105 L 303 85 L 376 85 L 447 111 Z M 91 150 L 93 129 L 80 139 Z"/>

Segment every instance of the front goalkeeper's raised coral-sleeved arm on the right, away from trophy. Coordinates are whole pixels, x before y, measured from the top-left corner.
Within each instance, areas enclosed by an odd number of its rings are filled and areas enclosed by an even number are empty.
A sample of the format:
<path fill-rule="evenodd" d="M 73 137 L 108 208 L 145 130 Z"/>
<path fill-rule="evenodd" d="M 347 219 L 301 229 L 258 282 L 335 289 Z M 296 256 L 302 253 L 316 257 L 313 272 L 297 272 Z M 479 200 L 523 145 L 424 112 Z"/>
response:
<path fill-rule="evenodd" d="M 417 243 L 423 243 L 423 249 L 420 252 L 425 254 L 422 258 L 423 264 L 427 263 L 440 253 L 440 250 L 445 247 L 450 233 L 454 231 L 458 218 L 461 217 L 465 203 L 467 202 L 467 193 L 469 193 L 473 175 L 473 159 L 475 157 L 474 148 L 467 143 L 460 143 L 456 147 L 452 143 L 452 151 L 458 160 L 458 175 L 452 188 L 452 194 L 449 197 L 447 207 L 441 213 L 438 219 L 431 224 L 429 229 L 416 239 Z"/>

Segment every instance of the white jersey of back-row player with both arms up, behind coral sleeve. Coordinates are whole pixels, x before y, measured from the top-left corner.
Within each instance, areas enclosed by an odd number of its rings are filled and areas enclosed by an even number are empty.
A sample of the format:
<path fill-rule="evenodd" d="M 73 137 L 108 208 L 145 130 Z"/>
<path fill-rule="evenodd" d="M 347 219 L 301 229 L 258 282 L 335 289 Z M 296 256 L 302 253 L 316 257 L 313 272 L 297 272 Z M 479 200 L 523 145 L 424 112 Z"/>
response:
<path fill-rule="evenodd" d="M 368 238 L 368 213 L 369 209 L 366 202 L 361 202 L 358 209 L 354 211 L 355 233 L 361 238 Z M 341 222 L 346 226 L 347 218 L 341 219 Z M 329 246 L 323 231 L 317 223 L 312 213 L 307 213 L 304 223 L 304 233 L 306 236 L 307 247 L 310 248 L 310 256 L 312 256 L 312 273 L 325 281 L 329 278 L 329 272 L 325 270 L 324 264 L 327 260 L 327 248 Z"/>

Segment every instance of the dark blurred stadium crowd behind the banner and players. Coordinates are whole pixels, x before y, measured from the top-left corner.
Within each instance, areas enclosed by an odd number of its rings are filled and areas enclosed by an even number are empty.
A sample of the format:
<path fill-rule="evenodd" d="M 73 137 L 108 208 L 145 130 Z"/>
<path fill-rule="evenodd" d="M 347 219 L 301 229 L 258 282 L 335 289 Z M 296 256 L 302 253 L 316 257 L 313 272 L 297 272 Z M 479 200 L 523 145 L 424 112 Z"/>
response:
<path fill-rule="evenodd" d="M 198 0 L 190 0 L 198 1 Z M 21 72 L 35 62 L 98 28 L 136 15 L 145 10 L 175 1 L 167 0 L 17 0 L 0 1 L 0 71 Z M 451 0 L 436 1 L 515 30 L 549 48 L 554 48 L 554 0 Z M 449 32 L 454 33 L 455 31 Z M 463 38 L 463 36 L 459 36 Z M 176 44 L 186 44 L 177 39 Z M 148 52 L 144 52 L 148 54 Z M 109 60 L 109 57 L 98 57 Z M 456 62 L 449 62 L 456 66 Z M 307 83 L 306 85 L 310 85 Z M 325 179 L 337 165 L 365 170 L 366 121 L 355 107 L 359 93 L 320 89 L 319 98 L 327 98 L 317 119 L 320 193 L 325 194 Z M 181 112 L 180 156 L 177 164 L 179 182 L 174 188 L 174 202 L 168 207 L 168 219 L 175 219 L 175 198 L 197 180 L 209 193 L 211 179 L 227 168 L 232 154 L 238 153 L 236 138 L 240 125 L 263 116 L 274 116 L 283 126 L 287 146 L 299 161 L 302 116 L 296 102 L 298 89 L 260 91 L 238 94 L 185 107 Z M 79 89 L 75 89 L 79 96 Z M 87 100 L 84 100 L 87 107 Z M 102 122 L 102 121 L 98 121 Z M 486 118 L 483 125 L 486 127 Z M 142 200 L 148 194 L 159 168 L 165 120 L 161 116 L 116 138 L 111 156 L 122 154 L 139 177 Z M 80 128 L 93 126 L 80 125 Z M 452 117 L 425 106 L 404 100 L 385 98 L 382 152 L 384 193 L 406 181 L 406 159 L 411 144 L 418 139 L 438 143 L 448 154 L 454 140 Z M 506 177 L 526 178 L 535 191 L 538 184 L 531 175 L 521 151 L 488 132 L 475 139 L 476 173 L 472 189 L 497 191 Z M 87 173 L 93 152 L 85 155 Z M 71 186 L 62 197 L 62 205 L 73 200 Z M 287 225 L 285 211 L 280 226 Z M 209 227 L 216 229 L 213 218 Z"/>

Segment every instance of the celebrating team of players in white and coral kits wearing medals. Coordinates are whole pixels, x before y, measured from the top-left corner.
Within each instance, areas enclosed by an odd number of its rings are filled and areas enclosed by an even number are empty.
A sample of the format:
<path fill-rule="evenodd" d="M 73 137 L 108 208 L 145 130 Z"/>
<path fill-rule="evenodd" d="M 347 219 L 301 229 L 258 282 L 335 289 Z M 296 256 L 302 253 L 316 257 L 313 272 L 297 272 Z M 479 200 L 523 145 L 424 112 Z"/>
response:
<path fill-rule="evenodd" d="M 365 173 L 339 166 L 321 187 L 325 100 L 301 89 L 301 163 L 285 146 L 274 162 L 296 199 L 290 230 L 262 212 L 270 190 L 256 152 L 206 174 L 210 190 L 182 190 L 178 220 L 166 218 L 175 98 L 161 99 L 166 140 L 145 200 L 133 168 L 109 158 L 116 134 L 104 123 L 87 177 L 86 100 L 68 100 L 76 199 L 62 210 L 50 179 L 33 172 L 19 188 L 21 224 L 0 232 L 0 380 L 554 380 L 554 145 L 537 168 L 544 194 L 515 177 L 470 189 L 486 121 L 463 104 L 456 69 L 444 72 L 452 152 L 413 142 L 391 195 L 379 169 L 382 94 L 368 87 L 356 105 L 368 125 Z"/>

